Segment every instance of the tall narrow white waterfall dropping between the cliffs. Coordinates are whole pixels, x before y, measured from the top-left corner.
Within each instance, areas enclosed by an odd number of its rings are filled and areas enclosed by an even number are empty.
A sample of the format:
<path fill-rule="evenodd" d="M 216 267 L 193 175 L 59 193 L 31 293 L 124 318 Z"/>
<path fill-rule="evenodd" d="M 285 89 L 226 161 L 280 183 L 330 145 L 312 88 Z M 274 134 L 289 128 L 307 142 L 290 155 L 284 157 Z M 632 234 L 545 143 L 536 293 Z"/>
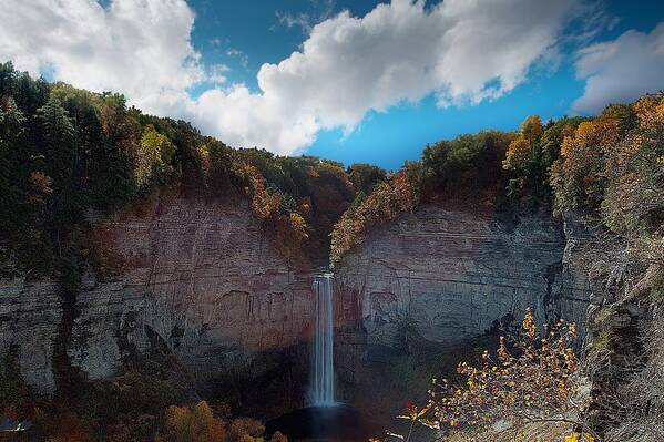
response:
<path fill-rule="evenodd" d="M 311 364 L 314 407 L 335 405 L 333 274 L 314 277 L 316 330 Z"/>

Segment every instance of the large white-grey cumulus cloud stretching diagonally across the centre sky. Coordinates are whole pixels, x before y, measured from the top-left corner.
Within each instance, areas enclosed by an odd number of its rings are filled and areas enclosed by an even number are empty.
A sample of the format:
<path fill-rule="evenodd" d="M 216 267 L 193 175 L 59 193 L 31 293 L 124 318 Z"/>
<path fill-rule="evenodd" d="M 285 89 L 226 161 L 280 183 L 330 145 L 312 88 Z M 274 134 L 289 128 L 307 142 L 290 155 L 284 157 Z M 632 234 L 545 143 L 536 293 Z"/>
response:
<path fill-rule="evenodd" d="M 244 86 L 204 93 L 190 109 L 225 140 L 290 153 L 324 129 L 353 131 L 367 112 L 417 102 L 478 103 L 520 84 L 550 53 L 572 1 L 394 0 L 362 18 L 348 12 L 315 25 L 302 50 Z M 229 123 L 233 121 L 233 123 Z"/>

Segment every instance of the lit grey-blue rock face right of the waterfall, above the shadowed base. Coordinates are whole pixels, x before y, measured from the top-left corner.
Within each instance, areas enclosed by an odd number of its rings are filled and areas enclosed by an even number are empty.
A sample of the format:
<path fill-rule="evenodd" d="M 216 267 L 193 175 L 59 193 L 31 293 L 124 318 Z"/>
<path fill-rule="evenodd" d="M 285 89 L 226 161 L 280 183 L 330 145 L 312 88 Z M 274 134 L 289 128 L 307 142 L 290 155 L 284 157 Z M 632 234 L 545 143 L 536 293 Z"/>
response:
<path fill-rule="evenodd" d="M 369 346 L 407 348 L 411 336 L 456 346 L 525 307 L 540 321 L 582 315 L 588 292 L 564 271 L 564 249 L 549 216 L 514 223 L 426 206 L 347 256 L 338 291 L 359 300 Z"/>

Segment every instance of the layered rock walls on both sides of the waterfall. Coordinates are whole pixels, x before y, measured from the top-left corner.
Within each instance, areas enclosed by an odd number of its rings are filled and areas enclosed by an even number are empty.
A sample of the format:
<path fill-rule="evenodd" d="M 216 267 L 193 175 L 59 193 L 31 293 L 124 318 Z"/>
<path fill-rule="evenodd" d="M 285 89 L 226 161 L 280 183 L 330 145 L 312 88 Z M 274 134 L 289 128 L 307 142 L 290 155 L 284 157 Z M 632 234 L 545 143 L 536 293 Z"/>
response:
<path fill-rule="evenodd" d="M 303 405 L 313 273 L 286 264 L 246 203 L 162 195 L 94 230 L 108 271 L 85 273 L 65 337 L 68 363 L 85 379 L 164 363 L 159 353 L 245 410 Z M 527 306 L 541 321 L 583 323 L 591 289 L 574 267 L 574 235 L 545 214 L 508 219 L 433 205 L 378 228 L 335 268 L 341 399 L 400 405 L 426 392 L 446 361 L 468 357 L 468 342 L 518 323 Z M 1 280 L 0 351 L 12 349 L 42 393 L 57 388 L 68 317 L 58 290 L 29 276 Z"/>

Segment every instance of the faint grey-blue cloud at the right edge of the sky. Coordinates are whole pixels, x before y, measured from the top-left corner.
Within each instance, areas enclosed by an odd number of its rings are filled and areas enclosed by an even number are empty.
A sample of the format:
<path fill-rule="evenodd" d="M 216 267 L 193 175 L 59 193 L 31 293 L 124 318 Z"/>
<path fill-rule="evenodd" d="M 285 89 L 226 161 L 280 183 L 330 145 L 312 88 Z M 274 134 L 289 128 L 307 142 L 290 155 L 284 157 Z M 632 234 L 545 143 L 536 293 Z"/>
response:
<path fill-rule="evenodd" d="M 582 49 L 576 76 L 585 91 L 573 107 L 597 112 L 610 103 L 627 103 L 664 89 L 664 22 L 651 33 L 627 31 L 611 42 Z"/>

